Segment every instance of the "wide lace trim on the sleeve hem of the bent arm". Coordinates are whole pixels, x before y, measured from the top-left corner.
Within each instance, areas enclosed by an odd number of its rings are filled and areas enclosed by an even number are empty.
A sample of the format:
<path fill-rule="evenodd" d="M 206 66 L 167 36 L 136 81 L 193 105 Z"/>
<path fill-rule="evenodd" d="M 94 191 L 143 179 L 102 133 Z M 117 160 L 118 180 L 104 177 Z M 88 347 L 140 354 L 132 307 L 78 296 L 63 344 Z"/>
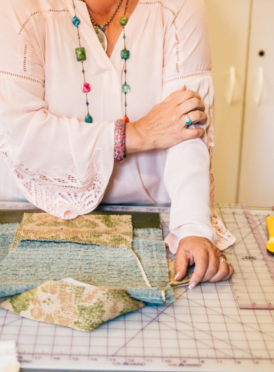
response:
<path fill-rule="evenodd" d="M 34 172 L 14 159 L 7 134 L 0 135 L 0 151 L 27 200 L 53 216 L 70 220 L 92 211 L 101 201 L 106 187 L 101 148 L 95 148 L 84 174 L 78 174 L 75 165 L 66 171 L 54 167 Z"/>

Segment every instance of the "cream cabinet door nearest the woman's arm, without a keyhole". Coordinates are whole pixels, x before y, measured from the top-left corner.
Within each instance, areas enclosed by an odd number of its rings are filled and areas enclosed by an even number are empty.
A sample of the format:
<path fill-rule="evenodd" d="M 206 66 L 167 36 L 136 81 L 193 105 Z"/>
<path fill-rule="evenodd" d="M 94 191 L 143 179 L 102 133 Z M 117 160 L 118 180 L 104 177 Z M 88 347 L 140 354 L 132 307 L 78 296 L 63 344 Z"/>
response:
<path fill-rule="evenodd" d="M 236 202 L 251 0 L 205 0 L 215 86 L 216 202 Z"/>

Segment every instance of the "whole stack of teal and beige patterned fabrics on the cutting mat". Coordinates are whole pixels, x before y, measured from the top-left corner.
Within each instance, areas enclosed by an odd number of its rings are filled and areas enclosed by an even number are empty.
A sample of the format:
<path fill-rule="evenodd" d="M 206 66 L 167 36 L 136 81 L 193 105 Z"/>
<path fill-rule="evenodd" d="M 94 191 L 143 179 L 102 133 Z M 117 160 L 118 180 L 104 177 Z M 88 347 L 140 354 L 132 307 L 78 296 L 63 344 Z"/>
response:
<path fill-rule="evenodd" d="M 0 224 L 0 306 L 25 318 L 92 331 L 175 301 L 158 213 L 92 212 L 74 220 L 25 213 Z"/>

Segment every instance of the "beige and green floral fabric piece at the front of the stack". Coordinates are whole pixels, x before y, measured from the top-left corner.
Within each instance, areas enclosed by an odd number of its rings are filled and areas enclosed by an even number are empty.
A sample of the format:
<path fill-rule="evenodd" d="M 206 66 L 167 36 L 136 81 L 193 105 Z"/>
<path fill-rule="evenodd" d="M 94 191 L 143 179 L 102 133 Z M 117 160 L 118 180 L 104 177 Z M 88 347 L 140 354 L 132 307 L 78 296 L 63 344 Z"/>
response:
<path fill-rule="evenodd" d="M 3 309 L 25 318 L 86 332 L 144 306 L 145 302 L 132 299 L 125 290 L 99 288 L 73 279 L 46 281 L 1 303 Z"/>

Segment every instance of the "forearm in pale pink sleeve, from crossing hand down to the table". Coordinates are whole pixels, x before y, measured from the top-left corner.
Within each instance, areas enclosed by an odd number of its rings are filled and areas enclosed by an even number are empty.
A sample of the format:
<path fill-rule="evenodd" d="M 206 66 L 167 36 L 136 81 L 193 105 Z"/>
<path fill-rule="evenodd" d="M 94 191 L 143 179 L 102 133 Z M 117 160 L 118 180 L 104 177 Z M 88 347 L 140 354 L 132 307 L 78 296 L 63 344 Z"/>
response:
<path fill-rule="evenodd" d="M 164 183 L 171 198 L 169 229 L 177 242 L 187 236 L 216 242 L 211 223 L 209 163 L 208 149 L 201 139 L 179 143 L 166 152 Z"/>

